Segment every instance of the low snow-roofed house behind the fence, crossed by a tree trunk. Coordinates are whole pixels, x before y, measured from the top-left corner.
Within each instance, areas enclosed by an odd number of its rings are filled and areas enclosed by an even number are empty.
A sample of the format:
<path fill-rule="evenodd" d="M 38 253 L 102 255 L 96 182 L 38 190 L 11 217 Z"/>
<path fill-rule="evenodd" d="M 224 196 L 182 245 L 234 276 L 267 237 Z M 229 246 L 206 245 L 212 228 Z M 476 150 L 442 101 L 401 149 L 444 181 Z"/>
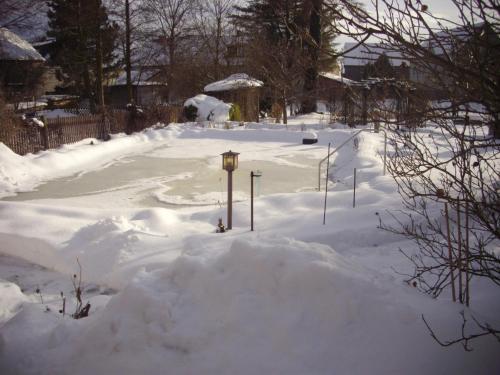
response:
<path fill-rule="evenodd" d="M 152 106 L 166 101 L 167 84 L 161 79 L 159 70 L 132 70 L 132 96 L 139 106 Z M 128 104 L 127 75 L 122 72 L 108 83 L 109 104 L 125 107 Z"/>

